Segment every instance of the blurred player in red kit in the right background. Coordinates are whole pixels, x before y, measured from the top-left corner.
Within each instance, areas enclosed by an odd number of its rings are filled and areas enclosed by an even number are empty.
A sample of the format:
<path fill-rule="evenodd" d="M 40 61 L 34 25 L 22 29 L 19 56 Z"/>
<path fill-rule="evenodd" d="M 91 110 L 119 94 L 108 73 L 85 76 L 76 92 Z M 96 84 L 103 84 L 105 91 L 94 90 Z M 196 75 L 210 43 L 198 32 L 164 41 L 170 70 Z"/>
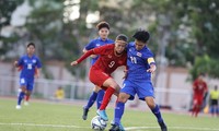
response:
<path fill-rule="evenodd" d="M 207 83 L 204 81 L 204 74 L 199 74 L 193 83 L 193 110 L 192 116 L 197 117 L 201 109 L 205 94 L 208 92 Z"/>

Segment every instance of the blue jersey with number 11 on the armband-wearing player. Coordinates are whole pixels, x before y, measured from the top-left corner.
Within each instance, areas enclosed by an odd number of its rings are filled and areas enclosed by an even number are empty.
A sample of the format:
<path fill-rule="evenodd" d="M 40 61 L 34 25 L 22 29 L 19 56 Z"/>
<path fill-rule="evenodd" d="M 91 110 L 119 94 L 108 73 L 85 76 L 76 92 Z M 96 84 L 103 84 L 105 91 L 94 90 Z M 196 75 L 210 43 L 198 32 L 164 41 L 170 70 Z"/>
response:
<path fill-rule="evenodd" d="M 153 53 L 148 47 L 143 47 L 141 50 L 137 50 L 135 43 L 131 41 L 127 45 L 127 67 L 128 67 L 128 80 L 148 80 L 151 81 L 151 73 L 147 72 L 150 68 L 149 59 L 153 58 Z"/>

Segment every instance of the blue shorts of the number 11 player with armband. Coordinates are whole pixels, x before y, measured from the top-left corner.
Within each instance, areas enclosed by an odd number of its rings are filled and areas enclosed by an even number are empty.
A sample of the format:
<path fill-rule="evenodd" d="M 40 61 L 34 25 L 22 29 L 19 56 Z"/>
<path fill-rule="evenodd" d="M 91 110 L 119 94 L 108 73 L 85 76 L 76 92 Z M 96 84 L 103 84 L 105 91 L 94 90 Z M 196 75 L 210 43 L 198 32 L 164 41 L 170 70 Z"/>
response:
<path fill-rule="evenodd" d="M 145 100 L 146 97 L 154 97 L 153 85 L 151 81 L 129 81 L 125 80 L 120 93 L 129 94 L 129 99 L 132 100 L 137 94 L 139 99 Z"/>

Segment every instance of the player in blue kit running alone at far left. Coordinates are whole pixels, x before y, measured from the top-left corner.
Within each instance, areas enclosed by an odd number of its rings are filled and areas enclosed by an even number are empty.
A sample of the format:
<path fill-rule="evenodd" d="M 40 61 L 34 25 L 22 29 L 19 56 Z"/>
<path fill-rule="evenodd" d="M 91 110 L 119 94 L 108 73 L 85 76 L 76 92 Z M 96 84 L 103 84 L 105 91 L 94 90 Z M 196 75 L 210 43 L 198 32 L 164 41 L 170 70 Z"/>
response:
<path fill-rule="evenodd" d="M 18 96 L 18 105 L 16 109 L 21 109 L 21 102 L 24 96 L 31 96 L 33 87 L 34 87 L 34 78 L 39 76 L 39 70 L 42 68 L 42 63 L 34 55 L 35 52 L 35 44 L 30 43 L 27 44 L 26 48 L 27 53 L 22 56 L 19 61 L 14 61 L 14 66 L 16 68 L 21 68 L 20 74 L 20 90 Z"/>

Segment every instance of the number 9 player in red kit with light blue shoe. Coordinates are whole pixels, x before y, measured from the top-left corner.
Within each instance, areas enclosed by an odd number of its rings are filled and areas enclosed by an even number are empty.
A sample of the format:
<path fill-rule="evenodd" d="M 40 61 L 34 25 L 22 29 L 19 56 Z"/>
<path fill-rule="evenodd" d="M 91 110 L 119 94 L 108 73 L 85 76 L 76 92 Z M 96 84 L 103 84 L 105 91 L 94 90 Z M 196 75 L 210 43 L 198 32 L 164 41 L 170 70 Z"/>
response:
<path fill-rule="evenodd" d="M 119 93 L 119 85 L 111 76 L 111 74 L 120 66 L 126 66 L 127 52 L 125 50 L 128 38 L 127 36 L 120 34 L 116 37 L 115 44 L 104 45 L 85 52 L 81 58 L 71 62 L 71 66 L 76 66 L 83 61 L 91 55 L 99 55 L 100 58 L 91 67 L 89 79 L 90 81 L 105 90 L 105 95 L 101 107 L 96 111 L 102 119 L 108 120 L 105 112 L 105 108 L 111 100 L 113 94 L 117 95 Z"/>

